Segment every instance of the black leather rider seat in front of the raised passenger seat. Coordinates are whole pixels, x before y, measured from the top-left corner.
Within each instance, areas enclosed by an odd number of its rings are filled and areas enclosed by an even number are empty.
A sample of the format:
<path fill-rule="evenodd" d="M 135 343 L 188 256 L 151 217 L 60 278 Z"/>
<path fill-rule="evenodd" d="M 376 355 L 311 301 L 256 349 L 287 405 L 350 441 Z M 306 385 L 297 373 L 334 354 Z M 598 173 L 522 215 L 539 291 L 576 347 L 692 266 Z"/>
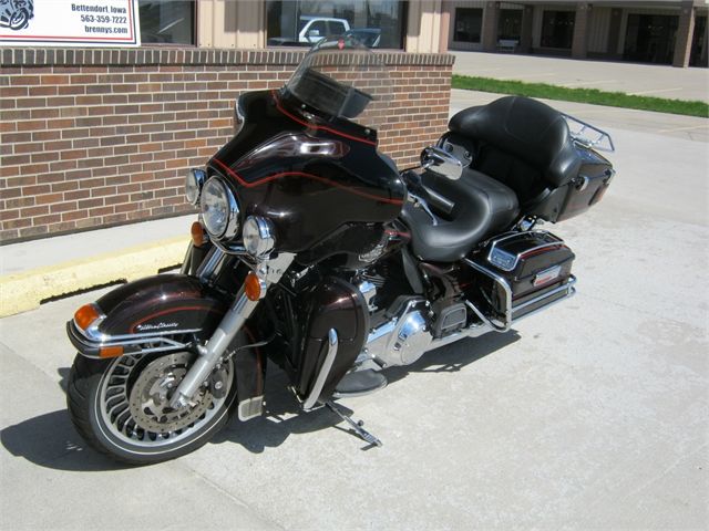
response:
<path fill-rule="evenodd" d="M 517 196 L 512 189 L 474 169 L 465 168 L 459 180 L 430 171 L 421 179 L 425 187 L 455 201 L 449 215 L 434 211 L 436 225 L 422 208 L 404 206 L 402 219 L 411 231 L 413 252 L 421 260 L 460 260 L 475 243 L 503 230 L 520 214 Z"/>

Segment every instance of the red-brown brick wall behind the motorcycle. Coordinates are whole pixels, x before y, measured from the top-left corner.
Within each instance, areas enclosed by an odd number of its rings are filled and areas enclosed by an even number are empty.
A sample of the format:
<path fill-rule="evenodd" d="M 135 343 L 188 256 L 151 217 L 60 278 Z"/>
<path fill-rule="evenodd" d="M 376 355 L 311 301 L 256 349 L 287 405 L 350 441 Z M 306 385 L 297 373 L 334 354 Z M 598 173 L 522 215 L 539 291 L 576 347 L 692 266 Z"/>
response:
<path fill-rule="evenodd" d="M 183 180 L 232 132 L 244 91 L 301 51 L 2 50 L 0 242 L 188 212 Z M 380 148 L 400 165 L 445 131 L 453 58 L 388 53 Z"/>

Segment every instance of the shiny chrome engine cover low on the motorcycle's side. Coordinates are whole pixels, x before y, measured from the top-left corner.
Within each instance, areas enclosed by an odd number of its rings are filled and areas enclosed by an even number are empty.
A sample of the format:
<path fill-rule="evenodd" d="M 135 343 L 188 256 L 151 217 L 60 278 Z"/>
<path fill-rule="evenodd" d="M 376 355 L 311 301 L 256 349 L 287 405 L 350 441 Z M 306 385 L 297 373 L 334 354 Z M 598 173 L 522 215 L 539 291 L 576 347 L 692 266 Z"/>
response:
<path fill-rule="evenodd" d="M 383 363 L 384 367 L 410 365 L 419 360 L 433 342 L 428 313 L 429 303 L 424 299 L 404 301 L 390 321 L 369 334 L 368 357 Z"/>

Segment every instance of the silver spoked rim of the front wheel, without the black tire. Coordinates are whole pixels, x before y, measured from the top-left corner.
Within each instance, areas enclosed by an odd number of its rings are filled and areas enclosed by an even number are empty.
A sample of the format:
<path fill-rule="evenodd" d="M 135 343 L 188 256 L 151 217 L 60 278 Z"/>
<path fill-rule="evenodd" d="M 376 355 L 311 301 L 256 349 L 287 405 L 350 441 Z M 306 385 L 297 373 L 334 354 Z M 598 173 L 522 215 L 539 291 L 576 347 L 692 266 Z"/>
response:
<path fill-rule="evenodd" d="M 157 450 L 193 438 L 208 426 L 223 412 L 234 382 L 234 365 L 229 361 L 219 368 L 223 374 L 218 381 L 226 384 L 226 389 L 217 396 L 207 381 L 191 406 L 174 409 L 169 407 L 171 398 L 194 358 L 188 352 L 117 358 L 103 374 L 96 394 L 101 428 L 109 431 L 105 435 Z"/>

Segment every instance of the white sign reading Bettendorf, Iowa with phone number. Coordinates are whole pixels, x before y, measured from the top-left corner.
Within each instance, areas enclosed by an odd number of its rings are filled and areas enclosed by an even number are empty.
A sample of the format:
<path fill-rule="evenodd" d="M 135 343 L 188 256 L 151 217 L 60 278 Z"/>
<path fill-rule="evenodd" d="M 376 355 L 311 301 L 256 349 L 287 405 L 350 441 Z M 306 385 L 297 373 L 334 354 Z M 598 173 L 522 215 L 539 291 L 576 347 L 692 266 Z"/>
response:
<path fill-rule="evenodd" d="M 0 45 L 140 46 L 137 0 L 0 0 Z"/>

